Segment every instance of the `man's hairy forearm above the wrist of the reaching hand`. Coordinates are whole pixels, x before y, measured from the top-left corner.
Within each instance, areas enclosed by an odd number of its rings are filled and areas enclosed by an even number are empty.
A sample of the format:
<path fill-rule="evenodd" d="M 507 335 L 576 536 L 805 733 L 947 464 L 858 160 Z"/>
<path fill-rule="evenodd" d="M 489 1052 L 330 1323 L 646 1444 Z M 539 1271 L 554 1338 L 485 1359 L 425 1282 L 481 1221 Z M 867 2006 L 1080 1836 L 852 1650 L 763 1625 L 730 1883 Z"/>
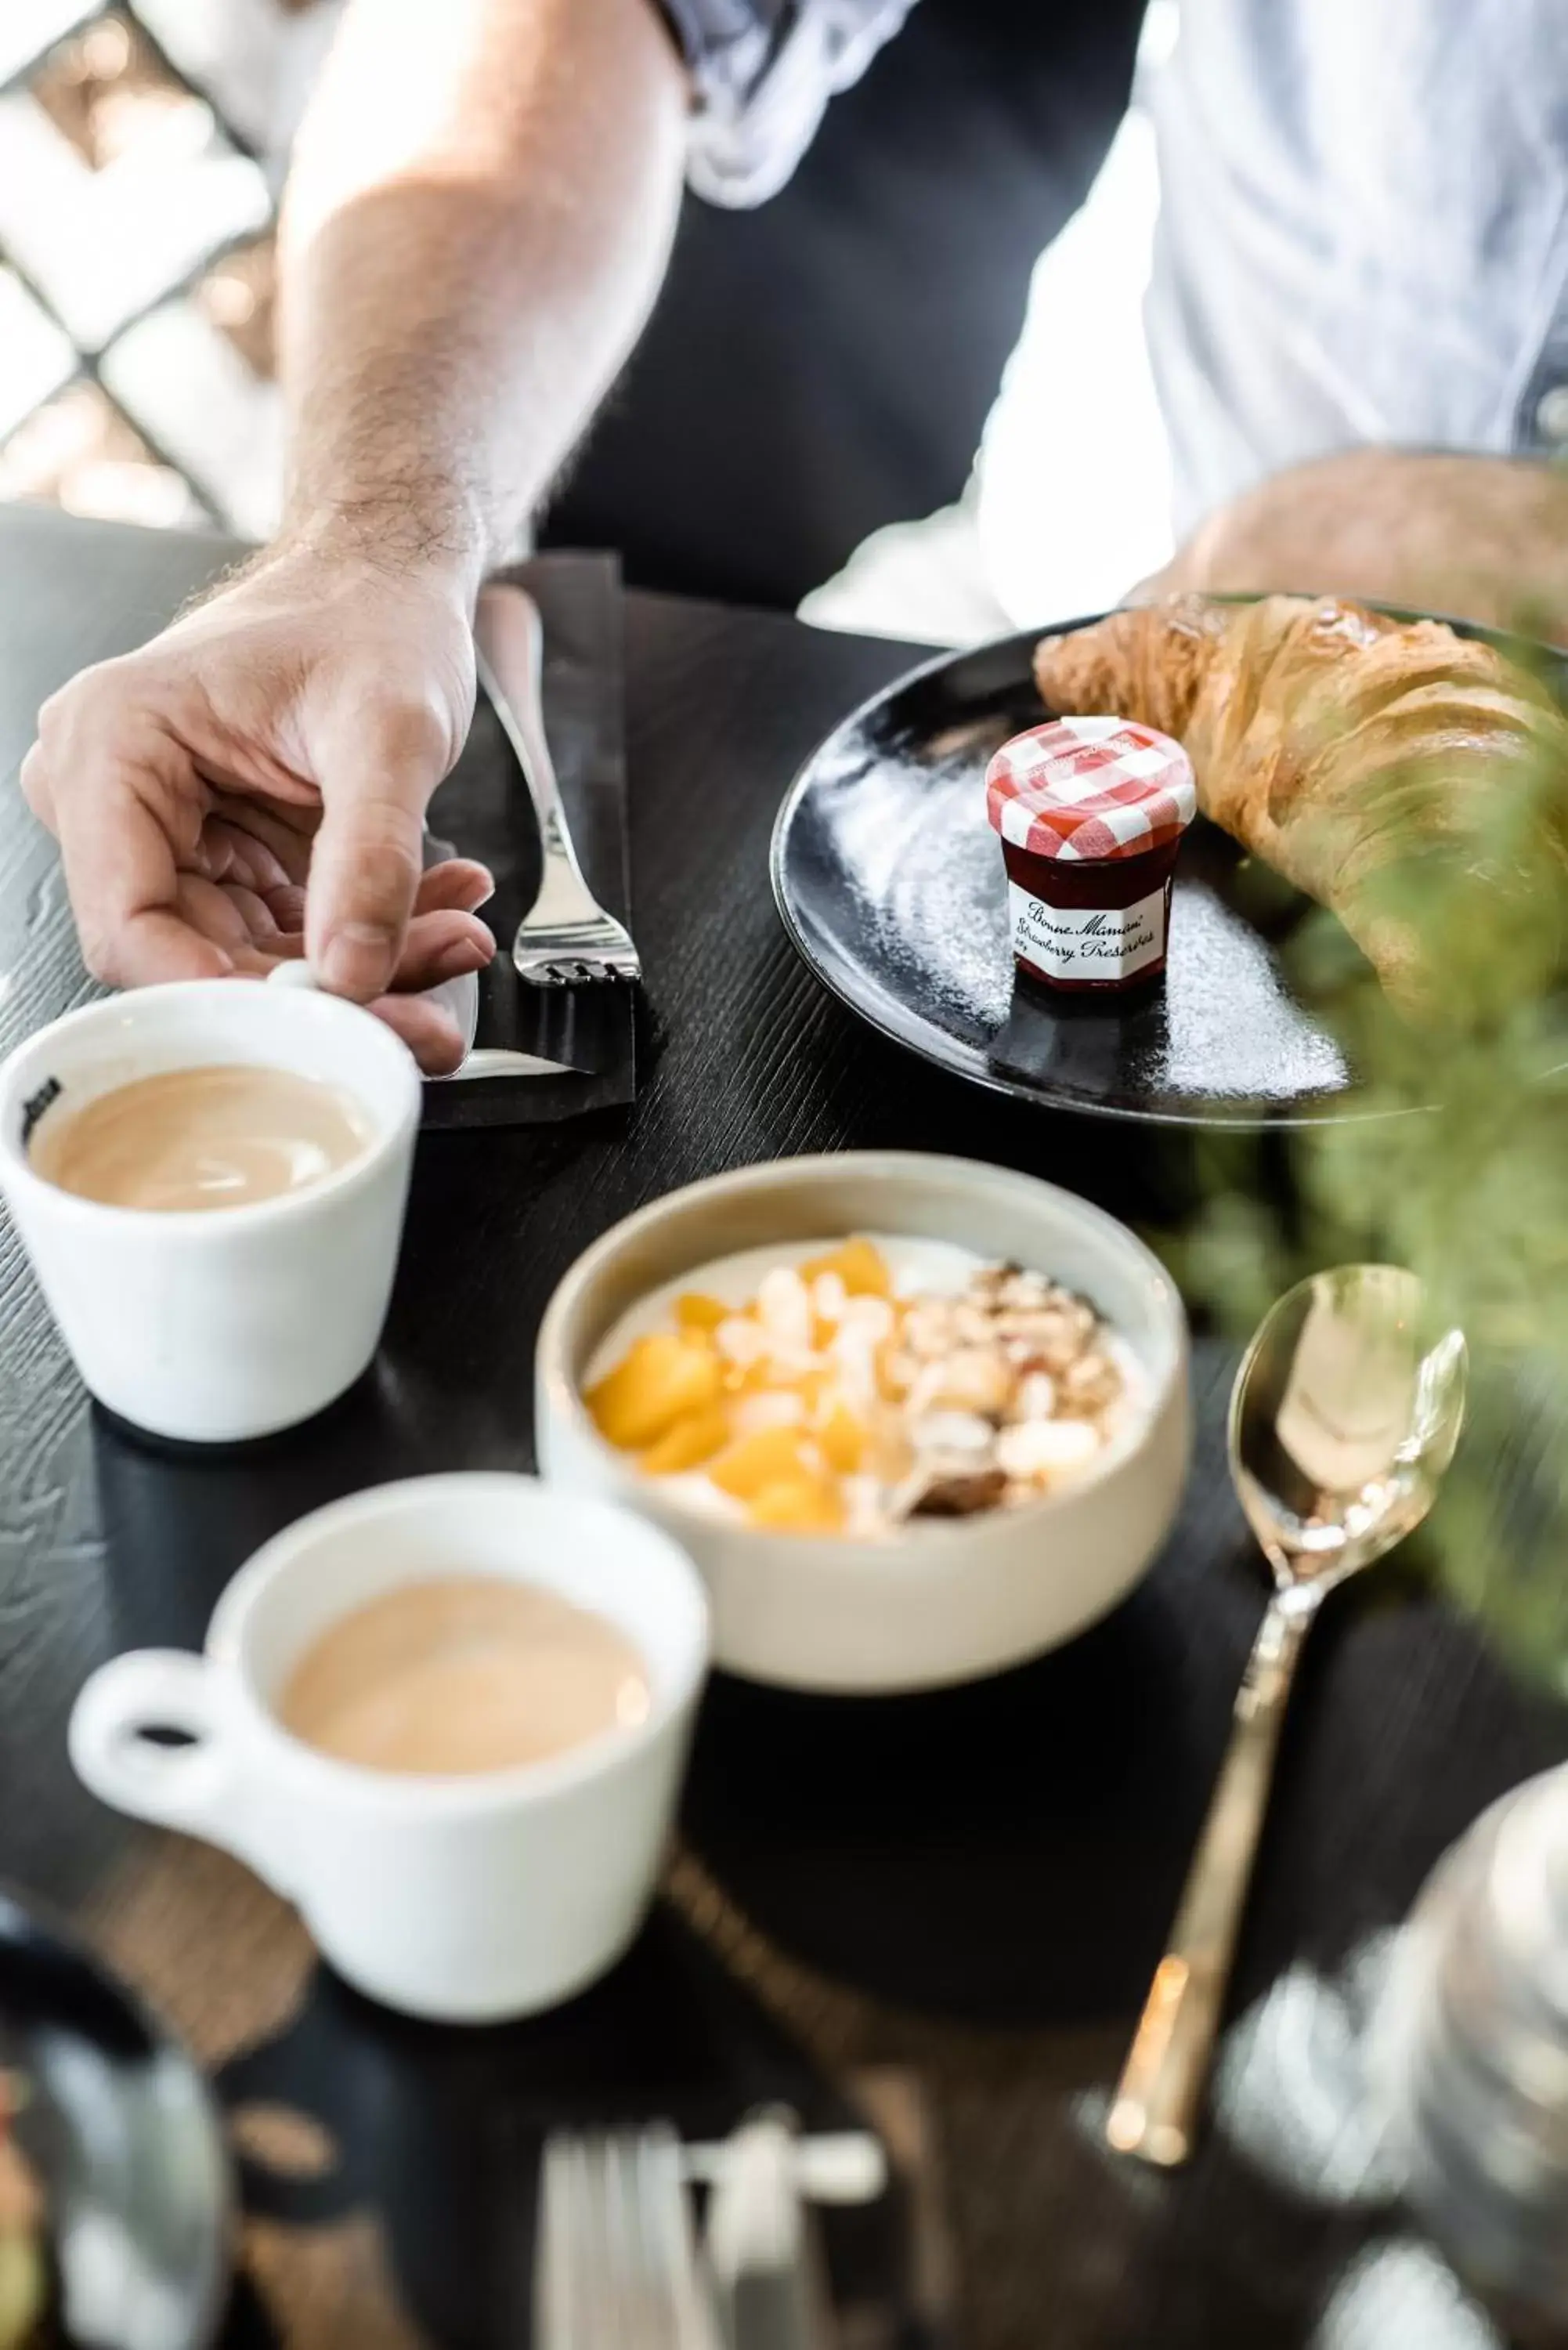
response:
<path fill-rule="evenodd" d="M 649 313 L 684 103 L 651 0 L 350 0 L 284 204 L 292 540 L 473 588 Z"/>

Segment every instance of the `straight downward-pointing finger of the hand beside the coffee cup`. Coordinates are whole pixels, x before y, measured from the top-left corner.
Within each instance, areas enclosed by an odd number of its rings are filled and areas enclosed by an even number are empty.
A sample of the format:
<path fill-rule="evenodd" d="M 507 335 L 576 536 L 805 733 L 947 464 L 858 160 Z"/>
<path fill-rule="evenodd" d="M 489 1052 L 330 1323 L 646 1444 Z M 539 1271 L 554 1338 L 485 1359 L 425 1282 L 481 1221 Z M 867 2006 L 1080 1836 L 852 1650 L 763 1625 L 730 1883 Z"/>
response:
<path fill-rule="evenodd" d="M 423 872 L 423 815 L 451 745 L 433 710 L 348 710 L 320 747 L 322 830 L 306 945 L 336 994 L 369 1003 L 402 954 Z"/>

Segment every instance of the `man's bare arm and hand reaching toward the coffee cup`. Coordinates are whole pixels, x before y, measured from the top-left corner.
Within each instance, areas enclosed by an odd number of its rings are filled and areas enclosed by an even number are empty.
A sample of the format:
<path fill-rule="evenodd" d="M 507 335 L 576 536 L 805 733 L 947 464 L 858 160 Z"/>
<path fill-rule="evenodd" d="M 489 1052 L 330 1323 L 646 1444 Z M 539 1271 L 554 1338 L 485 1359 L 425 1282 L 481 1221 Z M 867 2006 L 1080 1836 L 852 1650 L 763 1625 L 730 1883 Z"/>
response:
<path fill-rule="evenodd" d="M 350 0 L 284 207 L 284 526 L 24 766 L 99 978 L 308 952 L 456 1062 L 418 992 L 494 954 L 489 877 L 421 846 L 473 597 L 654 301 L 684 106 L 654 0 Z"/>

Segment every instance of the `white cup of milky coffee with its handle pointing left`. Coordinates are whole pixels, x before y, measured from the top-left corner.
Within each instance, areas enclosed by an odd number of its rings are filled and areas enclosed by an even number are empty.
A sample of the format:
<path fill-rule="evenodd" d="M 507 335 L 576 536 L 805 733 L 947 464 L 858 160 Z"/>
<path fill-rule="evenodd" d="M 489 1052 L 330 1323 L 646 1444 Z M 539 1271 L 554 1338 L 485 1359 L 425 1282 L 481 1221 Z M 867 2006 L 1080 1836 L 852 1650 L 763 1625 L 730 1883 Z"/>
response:
<path fill-rule="evenodd" d="M 705 1666 L 670 1535 L 536 1478 L 414 1478 L 268 1542 L 202 1657 L 101 1666 L 71 1760 L 103 1802 L 235 1852 L 360 1990 L 489 2023 L 635 1936 Z M 169 1727 L 188 1744 L 146 1737 Z"/>

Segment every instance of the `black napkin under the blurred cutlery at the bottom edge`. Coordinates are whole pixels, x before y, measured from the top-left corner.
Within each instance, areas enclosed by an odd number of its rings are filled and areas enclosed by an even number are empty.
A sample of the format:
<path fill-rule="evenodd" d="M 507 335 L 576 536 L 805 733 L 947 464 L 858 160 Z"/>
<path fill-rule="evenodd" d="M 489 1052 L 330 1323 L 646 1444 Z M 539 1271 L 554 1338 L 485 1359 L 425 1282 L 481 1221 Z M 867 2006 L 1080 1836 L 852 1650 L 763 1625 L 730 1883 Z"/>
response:
<path fill-rule="evenodd" d="M 769 2103 L 790 2106 L 811 2131 L 867 2127 L 665 1906 L 611 1974 L 522 2023 L 414 2023 L 320 1967 L 303 2007 L 223 2066 L 216 2092 L 230 2110 L 301 2110 L 336 2148 L 334 2167 L 308 2176 L 247 2148 L 247 2214 L 327 2230 L 374 2211 L 400 2305 L 447 2350 L 534 2343 L 538 2164 L 552 2129 L 672 2120 L 682 2138 L 722 2138 Z M 875 2204 L 820 2211 L 835 2301 L 875 2350 L 943 2345 L 914 2315 L 917 2186 L 896 2171 Z"/>

